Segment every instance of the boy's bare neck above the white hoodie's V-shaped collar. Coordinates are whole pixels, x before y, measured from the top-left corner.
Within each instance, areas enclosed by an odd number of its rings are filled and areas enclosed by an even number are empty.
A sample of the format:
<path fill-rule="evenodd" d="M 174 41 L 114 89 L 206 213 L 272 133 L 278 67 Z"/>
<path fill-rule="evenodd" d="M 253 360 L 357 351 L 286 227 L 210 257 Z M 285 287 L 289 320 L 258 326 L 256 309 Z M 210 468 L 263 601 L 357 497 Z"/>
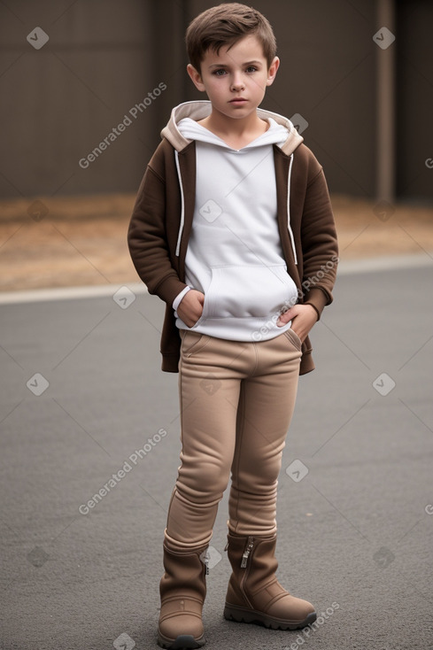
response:
<path fill-rule="evenodd" d="M 218 135 L 221 140 L 235 149 L 242 149 L 269 128 L 269 122 L 261 120 L 257 112 L 234 120 L 213 110 L 204 120 L 198 120 L 198 124 L 212 131 L 214 135 Z"/>

